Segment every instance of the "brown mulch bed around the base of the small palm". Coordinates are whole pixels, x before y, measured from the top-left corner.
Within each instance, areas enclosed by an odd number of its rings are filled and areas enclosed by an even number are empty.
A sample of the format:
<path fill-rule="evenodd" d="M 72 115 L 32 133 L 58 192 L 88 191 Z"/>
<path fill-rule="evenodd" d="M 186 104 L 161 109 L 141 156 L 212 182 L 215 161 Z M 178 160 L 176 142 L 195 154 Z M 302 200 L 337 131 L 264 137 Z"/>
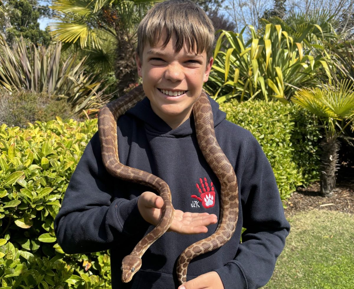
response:
<path fill-rule="evenodd" d="M 320 184 L 316 182 L 307 188 L 298 188 L 284 204 L 286 216 L 313 209 L 354 214 L 354 168 L 347 167 L 339 172 L 332 197 L 321 196 Z"/>

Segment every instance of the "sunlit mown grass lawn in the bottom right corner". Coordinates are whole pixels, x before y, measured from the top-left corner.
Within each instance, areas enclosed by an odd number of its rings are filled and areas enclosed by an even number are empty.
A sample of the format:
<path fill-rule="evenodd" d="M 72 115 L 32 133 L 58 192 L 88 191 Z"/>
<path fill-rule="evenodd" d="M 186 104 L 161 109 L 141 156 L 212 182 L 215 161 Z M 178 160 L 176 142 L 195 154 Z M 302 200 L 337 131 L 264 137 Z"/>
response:
<path fill-rule="evenodd" d="M 263 288 L 354 288 L 354 216 L 311 210 L 288 221 L 290 235 Z"/>

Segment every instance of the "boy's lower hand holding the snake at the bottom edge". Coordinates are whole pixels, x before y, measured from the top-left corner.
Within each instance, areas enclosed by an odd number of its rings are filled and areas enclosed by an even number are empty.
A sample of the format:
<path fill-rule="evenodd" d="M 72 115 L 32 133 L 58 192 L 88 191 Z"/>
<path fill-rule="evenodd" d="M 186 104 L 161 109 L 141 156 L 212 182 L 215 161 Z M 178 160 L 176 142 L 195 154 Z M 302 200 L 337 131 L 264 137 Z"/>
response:
<path fill-rule="evenodd" d="M 219 274 L 212 271 L 182 284 L 178 289 L 224 289 L 224 285 Z"/>

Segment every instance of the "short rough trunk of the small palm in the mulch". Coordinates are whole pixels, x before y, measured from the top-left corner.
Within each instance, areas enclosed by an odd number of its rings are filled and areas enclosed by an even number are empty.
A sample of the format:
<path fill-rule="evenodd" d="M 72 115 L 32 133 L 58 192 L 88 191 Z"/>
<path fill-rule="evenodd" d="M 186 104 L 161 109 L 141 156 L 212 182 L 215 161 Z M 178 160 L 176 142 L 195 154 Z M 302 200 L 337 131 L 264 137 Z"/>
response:
<path fill-rule="evenodd" d="M 336 185 L 339 142 L 337 140 L 324 140 L 321 145 L 321 195 L 331 197 L 333 195 L 333 189 Z"/>

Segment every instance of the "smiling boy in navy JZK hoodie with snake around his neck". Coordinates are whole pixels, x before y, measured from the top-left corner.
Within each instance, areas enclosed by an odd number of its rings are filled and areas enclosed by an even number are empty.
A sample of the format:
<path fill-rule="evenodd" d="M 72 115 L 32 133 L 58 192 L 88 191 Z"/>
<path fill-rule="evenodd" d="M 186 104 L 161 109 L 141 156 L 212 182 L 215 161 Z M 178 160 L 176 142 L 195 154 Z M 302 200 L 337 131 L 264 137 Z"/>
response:
<path fill-rule="evenodd" d="M 120 281 L 121 261 L 158 223 L 161 197 L 110 176 L 97 133 L 70 180 L 55 219 L 58 243 L 67 253 L 110 249 L 113 289 L 177 288 L 178 256 L 216 230 L 220 184 L 199 149 L 192 113 L 209 77 L 213 41 L 210 19 L 188 0 L 155 5 L 139 25 L 136 61 L 147 98 L 118 119 L 119 159 L 167 182 L 176 213 L 131 282 Z M 192 260 L 178 288 L 259 288 L 272 276 L 289 223 L 258 142 L 210 102 L 218 143 L 238 179 L 239 219 L 230 241 Z"/>

